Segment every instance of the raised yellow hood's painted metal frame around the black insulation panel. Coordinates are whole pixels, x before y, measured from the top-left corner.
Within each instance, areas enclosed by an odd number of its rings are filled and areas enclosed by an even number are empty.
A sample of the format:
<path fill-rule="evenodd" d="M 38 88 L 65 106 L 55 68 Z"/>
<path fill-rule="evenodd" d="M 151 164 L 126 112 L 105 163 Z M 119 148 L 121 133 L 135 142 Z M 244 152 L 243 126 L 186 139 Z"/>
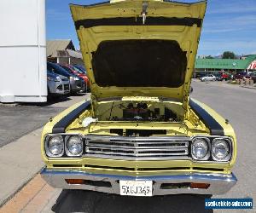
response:
<path fill-rule="evenodd" d="M 148 1 L 147 19 L 145 25 L 141 23 L 141 13 L 143 10 L 143 1 L 123 1 L 119 3 L 106 3 L 96 6 L 71 5 L 73 20 L 77 26 L 77 32 L 80 40 L 80 46 L 84 57 L 84 64 L 90 78 L 90 89 L 92 98 L 102 98 L 120 95 L 145 95 L 165 96 L 182 101 L 184 106 L 188 104 L 188 95 L 192 72 L 194 70 L 195 55 L 197 52 L 198 41 L 201 33 L 201 22 L 206 10 L 206 2 L 201 3 L 166 3 L 160 1 Z M 104 12 L 102 12 L 104 11 Z M 108 20 L 118 17 L 134 17 L 133 22 L 140 21 L 135 26 L 79 26 L 79 21 L 87 20 Z M 152 26 L 147 25 L 150 18 L 166 17 L 183 19 L 191 18 L 197 20 L 200 25 L 191 24 L 191 26 Z M 122 21 L 122 20 L 121 20 Z M 99 24 L 101 25 L 101 24 Z M 121 24 L 120 24 L 121 25 Z M 177 88 L 145 88 L 145 87 L 100 87 L 97 85 L 93 66 L 91 64 L 92 53 L 94 53 L 102 41 L 106 40 L 132 40 L 132 39 L 163 39 L 177 41 L 181 49 L 186 52 L 188 59 L 187 68 L 184 72 L 185 78 L 183 84 Z"/>

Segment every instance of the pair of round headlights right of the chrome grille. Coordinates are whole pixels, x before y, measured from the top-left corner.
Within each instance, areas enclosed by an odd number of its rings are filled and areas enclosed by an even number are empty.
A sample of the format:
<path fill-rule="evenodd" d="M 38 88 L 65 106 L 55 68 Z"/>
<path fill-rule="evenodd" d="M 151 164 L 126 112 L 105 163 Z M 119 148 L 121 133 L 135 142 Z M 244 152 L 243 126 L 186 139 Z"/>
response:
<path fill-rule="evenodd" d="M 231 158 L 231 141 L 228 138 L 198 137 L 192 140 L 191 154 L 196 160 L 229 161 Z"/>

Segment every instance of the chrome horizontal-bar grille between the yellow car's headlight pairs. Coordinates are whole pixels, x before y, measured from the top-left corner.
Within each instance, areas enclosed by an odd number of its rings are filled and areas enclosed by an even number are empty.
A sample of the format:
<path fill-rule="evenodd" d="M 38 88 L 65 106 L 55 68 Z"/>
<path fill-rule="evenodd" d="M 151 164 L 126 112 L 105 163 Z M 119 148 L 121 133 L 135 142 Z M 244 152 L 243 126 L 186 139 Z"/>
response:
<path fill-rule="evenodd" d="M 189 158 L 188 137 L 91 137 L 85 156 L 91 158 Z"/>

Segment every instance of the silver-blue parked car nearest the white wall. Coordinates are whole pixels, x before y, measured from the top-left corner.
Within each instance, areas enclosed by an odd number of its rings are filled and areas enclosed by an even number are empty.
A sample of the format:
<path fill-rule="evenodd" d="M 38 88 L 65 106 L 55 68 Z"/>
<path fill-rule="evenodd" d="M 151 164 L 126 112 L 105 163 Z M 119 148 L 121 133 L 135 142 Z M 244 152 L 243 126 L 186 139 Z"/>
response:
<path fill-rule="evenodd" d="M 48 95 L 67 95 L 70 93 L 69 78 L 47 71 Z"/>

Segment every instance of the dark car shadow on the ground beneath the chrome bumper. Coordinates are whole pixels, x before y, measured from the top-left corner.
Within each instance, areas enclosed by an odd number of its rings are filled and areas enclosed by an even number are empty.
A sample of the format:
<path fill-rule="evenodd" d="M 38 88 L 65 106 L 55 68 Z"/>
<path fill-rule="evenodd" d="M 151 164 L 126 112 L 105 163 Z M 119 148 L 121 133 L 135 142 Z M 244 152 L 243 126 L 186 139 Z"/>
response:
<path fill-rule="evenodd" d="M 62 190 L 52 211 L 86 213 L 148 213 L 148 212 L 213 212 L 205 210 L 205 199 L 211 195 L 168 195 L 151 198 L 123 197 L 83 190 Z"/>

